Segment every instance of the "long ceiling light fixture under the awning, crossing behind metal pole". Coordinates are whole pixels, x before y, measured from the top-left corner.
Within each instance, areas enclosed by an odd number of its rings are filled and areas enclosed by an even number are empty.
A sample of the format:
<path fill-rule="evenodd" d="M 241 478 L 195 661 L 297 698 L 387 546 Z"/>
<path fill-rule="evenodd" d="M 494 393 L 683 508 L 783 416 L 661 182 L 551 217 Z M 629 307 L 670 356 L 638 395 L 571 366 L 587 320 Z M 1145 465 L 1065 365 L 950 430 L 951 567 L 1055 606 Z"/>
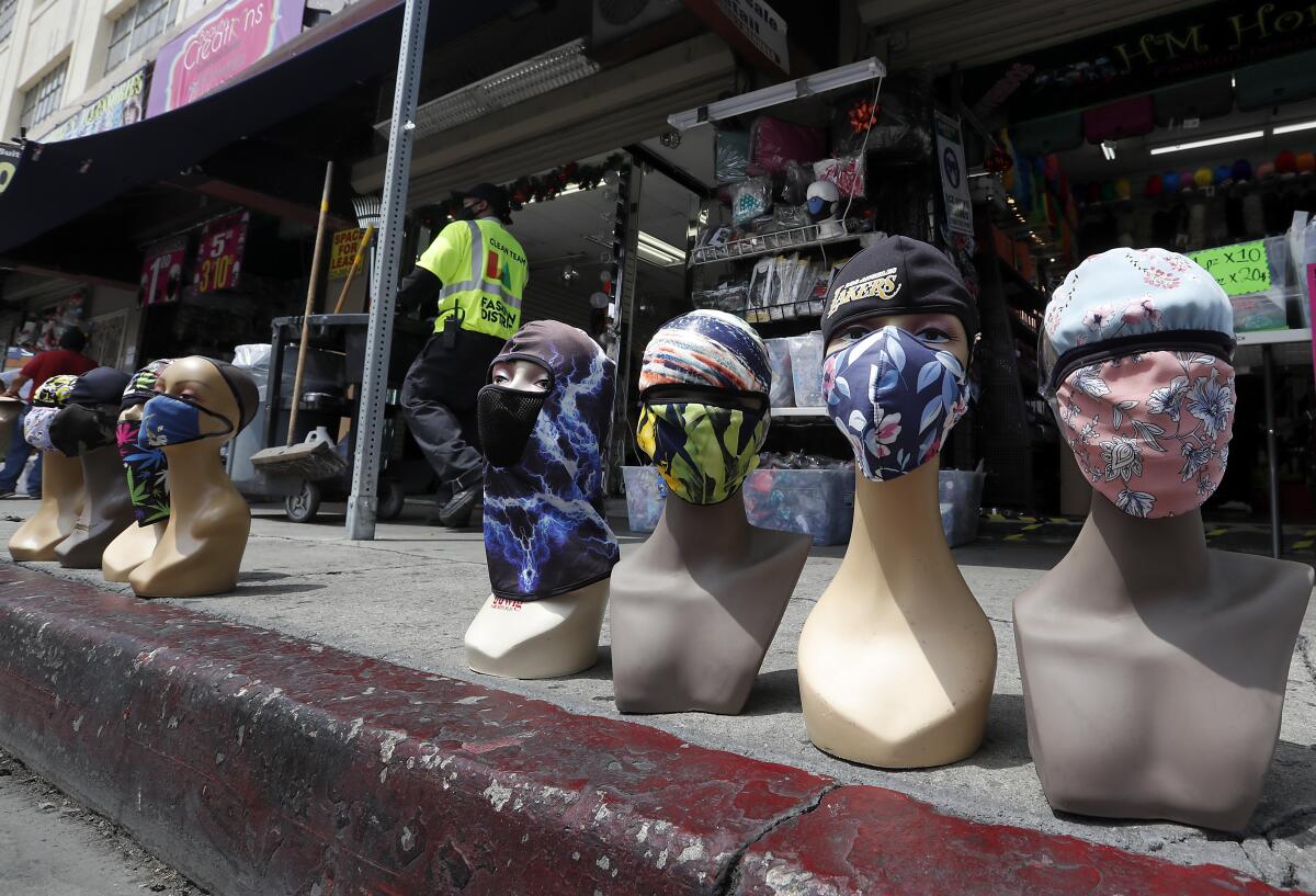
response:
<path fill-rule="evenodd" d="M 416 109 L 416 137 L 457 128 L 597 74 L 599 63 L 584 50 L 584 38 L 578 38 L 421 104 Z M 391 120 L 380 121 L 375 130 L 388 134 L 390 126 Z"/>

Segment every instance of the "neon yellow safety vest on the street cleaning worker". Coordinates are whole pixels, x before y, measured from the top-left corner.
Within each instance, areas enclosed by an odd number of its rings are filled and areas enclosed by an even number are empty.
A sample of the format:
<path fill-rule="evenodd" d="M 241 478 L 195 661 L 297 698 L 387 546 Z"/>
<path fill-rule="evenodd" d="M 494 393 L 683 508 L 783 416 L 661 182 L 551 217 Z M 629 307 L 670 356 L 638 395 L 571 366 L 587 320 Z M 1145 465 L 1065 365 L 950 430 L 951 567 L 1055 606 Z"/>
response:
<path fill-rule="evenodd" d="M 443 283 L 436 333 L 453 314 L 463 330 L 500 339 L 520 329 L 530 267 L 521 243 L 494 218 L 449 224 L 416 263 Z"/>

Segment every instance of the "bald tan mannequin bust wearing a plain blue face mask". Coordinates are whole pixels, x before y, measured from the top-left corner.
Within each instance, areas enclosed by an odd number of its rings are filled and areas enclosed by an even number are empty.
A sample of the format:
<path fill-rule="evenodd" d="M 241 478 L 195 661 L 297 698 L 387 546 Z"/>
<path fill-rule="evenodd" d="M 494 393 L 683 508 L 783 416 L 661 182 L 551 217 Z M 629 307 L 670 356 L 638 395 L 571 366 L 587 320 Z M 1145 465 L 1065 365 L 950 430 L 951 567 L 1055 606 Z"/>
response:
<path fill-rule="evenodd" d="M 251 510 L 229 482 L 220 446 L 251 422 L 255 383 L 209 358 L 180 358 L 142 408 L 138 445 L 161 447 L 170 471 L 170 517 L 154 553 L 129 575 L 141 597 L 196 597 L 232 591 L 251 529 Z"/>

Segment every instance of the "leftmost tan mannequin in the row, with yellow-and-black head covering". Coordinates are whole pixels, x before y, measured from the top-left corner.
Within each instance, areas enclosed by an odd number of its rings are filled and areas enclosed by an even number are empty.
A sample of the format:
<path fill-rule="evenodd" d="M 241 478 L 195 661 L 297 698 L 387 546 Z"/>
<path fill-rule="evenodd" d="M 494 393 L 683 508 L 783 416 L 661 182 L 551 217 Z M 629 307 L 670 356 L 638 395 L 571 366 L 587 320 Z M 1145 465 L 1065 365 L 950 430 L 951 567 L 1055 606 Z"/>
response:
<path fill-rule="evenodd" d="M 72 534 L 87 492 L 82 463 L 55 450 L 50 443 L 50 418 L 64 407 L 76 376 L 51 376 L 33 392 L 32 408 L 24 418 L 24 437 L 41 455 L 41 505 L 9 537 L 9 555 L 16 560 L 57 560 L 55 547 Z M 41 425 L 36 425 L 37 422 Z"/>

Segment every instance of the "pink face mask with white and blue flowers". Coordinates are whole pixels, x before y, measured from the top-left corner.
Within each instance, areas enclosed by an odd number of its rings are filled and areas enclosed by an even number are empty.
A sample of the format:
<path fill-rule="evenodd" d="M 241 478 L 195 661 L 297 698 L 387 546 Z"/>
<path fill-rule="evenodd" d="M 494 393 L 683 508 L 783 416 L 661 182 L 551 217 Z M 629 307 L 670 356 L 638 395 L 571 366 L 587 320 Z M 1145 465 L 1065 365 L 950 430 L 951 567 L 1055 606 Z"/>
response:
<path fill-rule="evenodd" d="M 1075 370 L 1051 409 L 1096 491 L 1129 516 L 1177 516 L 1224 476 L 1234 371 L 1196 351 L 1130 354 Z"/>

